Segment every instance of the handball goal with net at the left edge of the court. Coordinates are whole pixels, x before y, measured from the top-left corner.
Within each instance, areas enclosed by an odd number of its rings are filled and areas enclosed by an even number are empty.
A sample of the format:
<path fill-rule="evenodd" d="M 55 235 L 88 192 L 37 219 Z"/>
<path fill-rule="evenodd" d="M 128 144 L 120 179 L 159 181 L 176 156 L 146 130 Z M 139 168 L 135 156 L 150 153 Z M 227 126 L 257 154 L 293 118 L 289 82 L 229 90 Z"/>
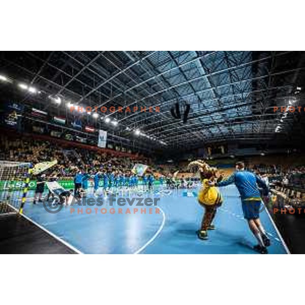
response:
<path fill-rule="evenodd" d="M 26 198 L 30 163 L 0 161 L 0 216 L 19 212 Z"/>

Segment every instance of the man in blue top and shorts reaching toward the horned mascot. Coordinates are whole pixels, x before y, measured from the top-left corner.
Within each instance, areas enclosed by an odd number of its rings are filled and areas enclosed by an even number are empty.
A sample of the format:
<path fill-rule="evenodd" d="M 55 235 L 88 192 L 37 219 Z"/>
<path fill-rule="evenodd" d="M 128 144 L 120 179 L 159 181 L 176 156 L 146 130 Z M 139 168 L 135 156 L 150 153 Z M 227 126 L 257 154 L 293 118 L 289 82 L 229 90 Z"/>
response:
<path fill-rule="evenodd" d="M 235 184 L 240 194 L 243 216 L 248 221 L 250 230 L 258 240 L 258 245 L 254 249 L 261 254 L 267 254 L 266 247 L 270 246 L 270 239 L 259 219 L 262 204 L 259 187 L 263 189 L 264 196 L 268 194 L 268 187 L 259 176 L 245 170 L 243 162 L 237 162 L 235 168 L 236 171 L 226 180 L 219 182 L 218 186 L 225 187 Z"/>

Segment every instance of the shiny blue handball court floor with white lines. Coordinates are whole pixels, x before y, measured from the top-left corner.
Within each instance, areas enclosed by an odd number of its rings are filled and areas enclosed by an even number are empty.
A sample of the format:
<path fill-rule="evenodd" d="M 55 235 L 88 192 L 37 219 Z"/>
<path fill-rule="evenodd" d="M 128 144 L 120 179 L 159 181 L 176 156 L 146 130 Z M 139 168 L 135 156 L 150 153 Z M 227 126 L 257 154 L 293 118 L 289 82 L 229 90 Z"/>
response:
<path fill-rule="evenodd" d="M 110 214 L 109 202 L 101 208 L 107 213 L 84 211 L 71 213 L 71 206 L 50 214 L 41 203 L 33 204 L 33 192 L 29 193 L 24 216 L 49 232 L 65 245 L 84 254 L 256 254 L 252 247 L 256 240 L 242 217 L 241 203 L 235 186 L 221 189 L 224 203 L 218 209 L 216 230 L 209 231 L 208 240 L 196 235 L 203 216 L 203 208 L 197 202 L 197 190 L 155 190 L 144 197 L 160 197 L 159 214 L 146 214 L 133 209 L 145 206 L 118 206 Z M 125 194 L 137 197 L 137 192 Z M 74 206 L 75 210 L 81 208 Z M 95 208 L 95 207 L 92 207 Z M 123 214 L 118 213 L 122 208 Z M 130 208 L 131 214 L 125 214 Z M 155 211 L 155 207 L 153 207 Z M 270 237 L 270 254 L 287 254 L 288 250 L 267 209 L 261 212 L 261 221 Z"/>

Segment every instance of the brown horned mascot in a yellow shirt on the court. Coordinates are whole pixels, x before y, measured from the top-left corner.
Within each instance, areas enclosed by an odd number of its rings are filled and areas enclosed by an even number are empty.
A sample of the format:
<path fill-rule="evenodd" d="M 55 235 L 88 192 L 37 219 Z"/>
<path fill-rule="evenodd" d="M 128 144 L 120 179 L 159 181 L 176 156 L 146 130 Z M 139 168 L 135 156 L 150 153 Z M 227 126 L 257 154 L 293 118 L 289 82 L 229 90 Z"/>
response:
<path fill-rule="evenodd" d="M 208 239 L 207 230 L 214 230 L 215 226 L 212 221 L 215 218 L 217 208 L 221 206 L 223 198 L 218 188 L 215 187 L 217 181 L 222 179 L 222 176 L 217 177 L 217 169 L 209 167 L 208 164 L 200 160 L 193 161 L 189 166 L 198 166 L 201 189 L 198 193 L 198 202 L 204 207 L 204 215 L 201 222 L 201 228 L 197 231 L 200 239 Z"/>

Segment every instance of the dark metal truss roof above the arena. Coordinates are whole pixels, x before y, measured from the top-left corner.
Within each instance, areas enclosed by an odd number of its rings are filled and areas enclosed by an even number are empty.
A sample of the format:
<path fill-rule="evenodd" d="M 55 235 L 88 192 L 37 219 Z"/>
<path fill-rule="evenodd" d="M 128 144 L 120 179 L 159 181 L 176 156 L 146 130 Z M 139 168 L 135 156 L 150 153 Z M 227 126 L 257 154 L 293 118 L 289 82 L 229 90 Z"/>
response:
<path fill-rule="evenodd" d="M 292 130 L 298 139 L 304 138 L 301 114 L 283 117 L 273 107 L 291 101 L 304 106 L 305 52 L 0 52 L 3 73 L 73 105 L 159 106 L 160 113 L 107 113 L 118 123 L 109 127 L 113 136 L 132 137 L 149 149 L 183 149 L 217 141 L 285 141 Z M 182 113 L 190 105 L 186 123 L 172 116 L 176 103 Z M 65 107 L 56 111 L 68 115 Z M 95 124 L 107 129 L 105 117 L 100 118 Z M 137 138 L 135 130 L 141 132 Z"/>

